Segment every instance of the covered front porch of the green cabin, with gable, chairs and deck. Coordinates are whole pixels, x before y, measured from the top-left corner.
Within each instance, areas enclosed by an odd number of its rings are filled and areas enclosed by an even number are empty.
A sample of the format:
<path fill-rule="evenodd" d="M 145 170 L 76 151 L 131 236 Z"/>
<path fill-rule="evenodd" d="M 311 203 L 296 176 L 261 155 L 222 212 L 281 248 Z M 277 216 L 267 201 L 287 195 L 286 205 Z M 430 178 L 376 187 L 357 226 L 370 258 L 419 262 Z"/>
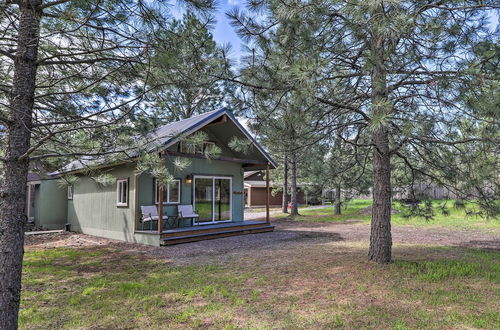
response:
<path fill-rule="evenodd" d="M 185 148 L 182 141 L 171 139 L 158 153 L 174 176 L 171 182 L 160 185 L 151 173 L 134 175 L 132 216 L 136 237 L 148 242 L 159 239 L 161 245 L 170 245 L 274 229 L 269 212 L 265 222 L 244 221 L 243 174 L 248 168 L 266 171 L 269 205 L 269 170 L 276 164 L 229 112 L 214 114 L 216 117 L 200 122 L 196 130 L 206 134 L 204 143 L 220 149 L 217 155 L 208 158 L 200 151 Z M 179 128 L 174 128 L 167 125 L 161 133 L 172 130 L 177 136 Z M 191 134 L 195 128 L 188 131 L 185 133 Z M 228 143 L 234 137 L 249 140 L 253 147 L 246 152 L 231 149 Z M 177 168 L 174 161 L 182 158 L 188 159 L 189 165 Z"/>

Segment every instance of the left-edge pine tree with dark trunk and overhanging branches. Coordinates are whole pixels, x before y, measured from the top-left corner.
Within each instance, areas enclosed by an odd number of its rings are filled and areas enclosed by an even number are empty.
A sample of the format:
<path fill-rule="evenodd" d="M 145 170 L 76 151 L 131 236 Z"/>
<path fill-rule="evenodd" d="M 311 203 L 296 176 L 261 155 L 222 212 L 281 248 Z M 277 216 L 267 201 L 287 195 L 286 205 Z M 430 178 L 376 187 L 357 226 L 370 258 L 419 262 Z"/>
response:
<path fill-rule="evenodd" d="M 127 156 L 117 146 L 133 144 L 126 124 L 151 88 L 151 47 L 170 17 L 142 0 L 8 0 L 0 11 L 0 328 L 14 329 L 29 165 Z"/>

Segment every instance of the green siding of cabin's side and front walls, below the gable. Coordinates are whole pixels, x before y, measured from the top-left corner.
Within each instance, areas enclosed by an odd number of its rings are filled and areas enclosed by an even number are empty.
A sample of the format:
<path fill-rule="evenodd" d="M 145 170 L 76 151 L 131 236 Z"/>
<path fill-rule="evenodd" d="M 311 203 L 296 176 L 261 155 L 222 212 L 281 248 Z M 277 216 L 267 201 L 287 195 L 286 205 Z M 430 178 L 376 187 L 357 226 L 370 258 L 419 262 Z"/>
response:
<path fill-rule="evenodd" d="M 167 158 L 167 166 L 176 178 L 181 179 L 181 204 L 192 204 L 193 184 L 186 183 L 186 176 L 209 175 L 230 176 L 232 178 L 232 220 L 243 221 L 243 169 L 239 163 L 219 160 L 190 158 L 191 165 L 182 170 L 173 168 L 172 159 Z M 116 183 L 101 186 L 90 177 L 80 176 L 73 186 L 73 200 L 67 201 L 68 222 L 71 230 L 89 235 L 102 236 L 112 239 L 158 245 L 158 235 L 134 233 L 134 168 L 135 164 L 117 166 L 106 173 L 116 179 L 129 179 L 129 203 L 127 207 L 116 206 Z M 142 174 L 138 178 L 139 195 L 137 205 L 137 219 L 140 216 L 141 205 L 154 204 L 153 178 Z M 177 205 L 166 205 L 165 214 L 177 215 Z M 186 220 L 182 226 L 188 226 Z"/>

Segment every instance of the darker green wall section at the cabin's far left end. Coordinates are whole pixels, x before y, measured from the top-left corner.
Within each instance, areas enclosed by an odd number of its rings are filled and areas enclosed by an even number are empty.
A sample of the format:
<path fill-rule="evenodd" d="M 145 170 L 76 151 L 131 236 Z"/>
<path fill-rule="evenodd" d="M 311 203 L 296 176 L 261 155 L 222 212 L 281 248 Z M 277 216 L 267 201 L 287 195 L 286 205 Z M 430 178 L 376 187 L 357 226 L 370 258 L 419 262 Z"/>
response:
<path fill-rule="evenodd" d="M 35 224 L 45 229 L 62 229 L 67 222 L 67 191 L 57 180 L 42 180 L 35 191 Z"/>

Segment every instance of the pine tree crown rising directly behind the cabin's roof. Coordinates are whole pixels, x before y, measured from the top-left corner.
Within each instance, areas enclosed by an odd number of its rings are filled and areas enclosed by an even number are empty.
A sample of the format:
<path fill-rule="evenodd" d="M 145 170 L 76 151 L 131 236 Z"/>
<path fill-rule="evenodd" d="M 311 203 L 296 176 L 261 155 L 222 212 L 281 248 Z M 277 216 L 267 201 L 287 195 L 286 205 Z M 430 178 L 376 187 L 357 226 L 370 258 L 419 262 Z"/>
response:
<path fill-rule="evenodd" d="M 227 48 L 219 47 L 209 32 L 212 21 L 188 12 L 174 20 L 154 45 L 148 106 L 161 121 L 186 119 L 217 110 L 233 95 L 232 84 L 217 78 L 230 70 Z"/>

